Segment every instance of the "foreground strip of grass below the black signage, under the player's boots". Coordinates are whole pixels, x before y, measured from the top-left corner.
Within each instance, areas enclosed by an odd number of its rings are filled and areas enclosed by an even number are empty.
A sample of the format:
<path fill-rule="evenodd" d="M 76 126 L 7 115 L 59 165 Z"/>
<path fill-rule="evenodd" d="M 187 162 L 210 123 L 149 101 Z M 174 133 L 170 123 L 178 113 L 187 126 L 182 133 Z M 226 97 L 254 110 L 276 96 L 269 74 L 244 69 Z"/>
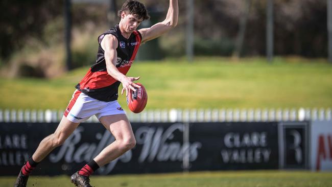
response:
<path fill-rule="evenodd" d="M 131 187 L 329 187 L 332 173 L 310 171 L 232 171 L 171 174 L 92 176 L 92 186 Z M 0 177 L 0 186 L 12 186 L 16 177 Z M 27 186 L 71 187 L 69 176 L 31 176 Z"/>

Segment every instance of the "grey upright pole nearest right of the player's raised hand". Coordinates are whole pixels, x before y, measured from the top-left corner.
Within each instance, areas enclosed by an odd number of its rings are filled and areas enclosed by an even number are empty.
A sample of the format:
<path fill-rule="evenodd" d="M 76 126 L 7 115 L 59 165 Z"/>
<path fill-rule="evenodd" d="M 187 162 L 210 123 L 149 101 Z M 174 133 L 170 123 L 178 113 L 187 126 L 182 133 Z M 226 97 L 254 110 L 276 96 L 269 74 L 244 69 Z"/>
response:
<path fill-rule="evenodd" d="M 188 62 L 194 59 L 194 0 L 187 0 L 186 55 Z"/>

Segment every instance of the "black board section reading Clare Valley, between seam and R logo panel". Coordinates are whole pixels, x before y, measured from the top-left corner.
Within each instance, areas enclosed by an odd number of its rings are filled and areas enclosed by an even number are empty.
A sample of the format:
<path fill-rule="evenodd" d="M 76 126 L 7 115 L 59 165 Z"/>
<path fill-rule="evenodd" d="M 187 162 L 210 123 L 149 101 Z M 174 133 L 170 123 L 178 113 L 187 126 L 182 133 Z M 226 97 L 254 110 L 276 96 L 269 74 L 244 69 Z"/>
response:
<path fill-rule="evenodd" d="M 199 142 L 195 170 L 278 168 L 278 124 L 274 122 L 191 123 L 190 142 Z"/>

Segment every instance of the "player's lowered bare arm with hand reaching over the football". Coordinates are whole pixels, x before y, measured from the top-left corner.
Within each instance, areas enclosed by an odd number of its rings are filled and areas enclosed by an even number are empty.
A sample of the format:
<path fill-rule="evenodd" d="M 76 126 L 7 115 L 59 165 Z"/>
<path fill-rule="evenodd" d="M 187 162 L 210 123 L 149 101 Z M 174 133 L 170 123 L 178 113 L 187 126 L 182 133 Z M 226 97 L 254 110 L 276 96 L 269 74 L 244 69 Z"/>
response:
<path fill-rule="evenodd" d="M 126 90 L 126 95 L 128 95 L 130 89 L 135 91 L 135 87 L 138 88 L 140 87 L 139 85 L 133 82 L 138 80 L 139 77 L 127 77 L 124 74 L 122 74 L 120 71 L 118 71 L 118 69 L 116 68 L 117 45 L 118 45 L 117 38 L 111 34 L 105 35 L 105 37 L 101 42 L 101 46 L 104 50 L 104 57 L 106 61 L 106 69 L 108 75 L 120 81 L 123 86 L 121 94 L 123 94 L 124 90 Z"/>

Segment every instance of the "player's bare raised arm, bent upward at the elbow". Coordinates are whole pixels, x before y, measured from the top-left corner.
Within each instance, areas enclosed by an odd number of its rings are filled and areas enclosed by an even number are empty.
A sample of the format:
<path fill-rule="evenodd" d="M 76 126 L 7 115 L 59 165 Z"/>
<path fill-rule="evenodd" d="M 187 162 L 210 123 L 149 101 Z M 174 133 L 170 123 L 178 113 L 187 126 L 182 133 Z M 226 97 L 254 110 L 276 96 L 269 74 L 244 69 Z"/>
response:
<path fill-rule="evenodd" d="M 150 28 L 138 30 L 142 36 L 142 43 L 155 39 L 173 29 L 178 24 L 178 15 L 178 0 L 170 0 L 170 7 L 165 20 L 158 22 Z"/>

